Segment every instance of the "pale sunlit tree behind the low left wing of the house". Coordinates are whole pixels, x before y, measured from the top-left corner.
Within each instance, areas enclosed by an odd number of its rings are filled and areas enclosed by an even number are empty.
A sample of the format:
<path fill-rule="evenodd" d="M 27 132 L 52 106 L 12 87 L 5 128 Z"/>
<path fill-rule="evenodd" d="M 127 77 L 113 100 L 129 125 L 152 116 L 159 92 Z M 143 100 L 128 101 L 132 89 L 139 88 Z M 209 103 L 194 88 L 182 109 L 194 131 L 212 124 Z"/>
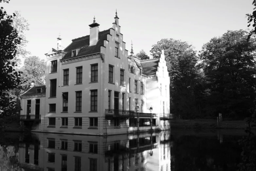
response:
<path fill-rule="evenodd" d="M 34 81 L 35 86 L 45 85 L 45 60 L 41 60 L 37 56 L 26 57 L 24 60 L 24 66 L 22 67 L 22 72 L 22 80 L 26 80 L 26 82 L 22 84 L 23 90 L 28 89 L 32 81 Z"/>

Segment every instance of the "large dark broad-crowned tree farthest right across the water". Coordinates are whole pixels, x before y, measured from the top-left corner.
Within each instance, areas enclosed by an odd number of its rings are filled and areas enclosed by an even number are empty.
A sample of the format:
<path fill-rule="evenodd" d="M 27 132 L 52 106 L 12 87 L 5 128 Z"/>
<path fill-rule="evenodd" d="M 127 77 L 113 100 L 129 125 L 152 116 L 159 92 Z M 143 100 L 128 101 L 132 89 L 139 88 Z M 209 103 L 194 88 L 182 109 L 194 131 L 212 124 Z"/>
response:
<path fill-rule="evenodd" d="M 256 97 L 256 45 L 243 30 L 228 31 L 202 47 L 200 59 L 208 90 L 206 111 L 244 118 Z"/>

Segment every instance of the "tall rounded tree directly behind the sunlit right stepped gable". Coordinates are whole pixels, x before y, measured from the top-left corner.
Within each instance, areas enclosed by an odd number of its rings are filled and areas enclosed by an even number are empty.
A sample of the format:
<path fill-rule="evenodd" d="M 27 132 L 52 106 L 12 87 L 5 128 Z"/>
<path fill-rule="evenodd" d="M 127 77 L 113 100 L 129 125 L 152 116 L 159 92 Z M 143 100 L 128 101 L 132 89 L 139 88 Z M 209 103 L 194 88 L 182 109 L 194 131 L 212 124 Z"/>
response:
<path fill-rule="evenodd" d="M 200 77 L 198 58 L 193 46 L 174 39 L 162 39 L 152 45 L 151 54 L 159 58 L 164 50 L 170 76 L 170 109 L 182 118 L 192 118 L 199 111 L 195 101 L 196 79 Z"/>

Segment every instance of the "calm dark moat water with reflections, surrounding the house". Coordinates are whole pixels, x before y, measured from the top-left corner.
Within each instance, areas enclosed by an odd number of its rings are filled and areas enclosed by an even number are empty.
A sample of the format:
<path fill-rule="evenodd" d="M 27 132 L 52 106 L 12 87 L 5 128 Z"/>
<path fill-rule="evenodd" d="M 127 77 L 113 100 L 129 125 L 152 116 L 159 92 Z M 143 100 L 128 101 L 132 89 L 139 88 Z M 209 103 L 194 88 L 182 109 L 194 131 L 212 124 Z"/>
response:
<path fill-rule="evenodd" d="M 108 137 L 2 133 L 0 170 L 236 170 L 243 130 L 185 130 Z"/>

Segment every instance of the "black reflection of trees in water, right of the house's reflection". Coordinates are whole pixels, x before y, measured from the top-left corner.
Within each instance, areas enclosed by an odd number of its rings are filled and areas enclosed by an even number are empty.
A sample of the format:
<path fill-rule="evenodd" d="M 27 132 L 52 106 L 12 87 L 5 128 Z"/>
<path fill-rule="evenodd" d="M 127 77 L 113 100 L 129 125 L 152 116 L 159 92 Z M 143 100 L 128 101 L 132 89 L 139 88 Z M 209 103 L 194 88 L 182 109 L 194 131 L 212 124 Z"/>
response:
<path fill-rule="evenodd" d="M 236 170 L 241 151 L 238 139 L 225 136 L 220 144 L 216 137 L 181 136 L 171 149 L 172 170 Z"/>

